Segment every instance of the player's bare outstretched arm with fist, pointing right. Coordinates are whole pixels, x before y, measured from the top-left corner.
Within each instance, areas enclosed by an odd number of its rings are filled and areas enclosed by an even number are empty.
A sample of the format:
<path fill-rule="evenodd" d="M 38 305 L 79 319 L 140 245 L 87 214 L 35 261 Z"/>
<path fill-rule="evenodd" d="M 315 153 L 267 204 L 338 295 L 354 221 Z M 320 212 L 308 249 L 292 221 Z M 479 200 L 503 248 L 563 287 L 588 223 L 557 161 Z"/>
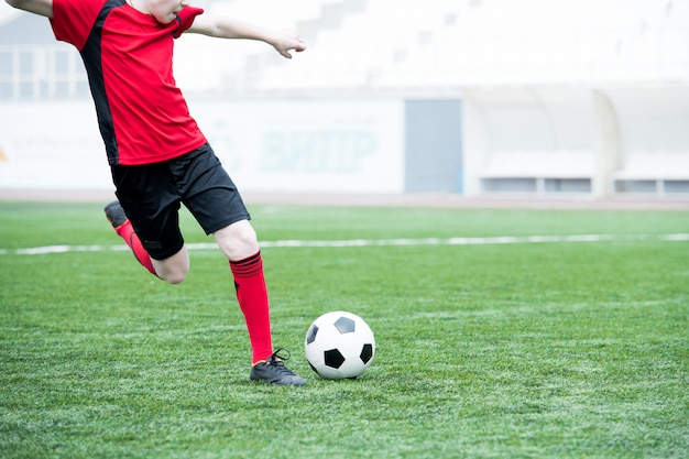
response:
<path fill-rule="evenodd" d="M 306 44 L 294 31 L 285 29 L 271 29 L 252 24 L 234 18 L 219 18 L 214 15 L 199 15 L 187 32 L 201 33 L 220 39 L 259 40 L 272 45 L 286 58 L 292 58 L 291 51 L 302 52 Z"/>

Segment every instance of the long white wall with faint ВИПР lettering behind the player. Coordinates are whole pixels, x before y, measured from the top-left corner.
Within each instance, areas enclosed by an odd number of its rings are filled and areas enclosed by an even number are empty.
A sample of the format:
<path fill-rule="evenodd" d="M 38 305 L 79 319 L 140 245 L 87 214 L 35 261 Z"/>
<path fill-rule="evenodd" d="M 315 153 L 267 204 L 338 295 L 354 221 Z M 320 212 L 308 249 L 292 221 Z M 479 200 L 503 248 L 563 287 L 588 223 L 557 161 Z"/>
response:
<path fill-rule="evenodd" d="M 192 100 L 189 107 L 242 190 L 403 192 L 402 100 Z M 90 101 L 3 103 L 0 149 L 0 188 L 112 187 Z"/>

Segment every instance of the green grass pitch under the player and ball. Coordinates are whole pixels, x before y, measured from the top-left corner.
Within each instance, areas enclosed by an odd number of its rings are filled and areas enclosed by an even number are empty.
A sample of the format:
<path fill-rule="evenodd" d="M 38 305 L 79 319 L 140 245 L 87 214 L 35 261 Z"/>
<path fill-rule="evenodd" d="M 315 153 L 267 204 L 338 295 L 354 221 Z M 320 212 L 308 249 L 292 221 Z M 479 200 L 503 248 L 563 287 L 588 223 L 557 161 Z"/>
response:
<path fill-rule="evenodd" d="M 251 211 L 274 341 L 305 387 L 249 381 L 219 251 L 192 251 L 171 286 L 113 250 L 99 205 L 0 203 L 0 457 L 689 456 L 689 240 L 665 237 L 689 212 Z M 183 217 L 187 242 L 212 242 Z M 524 239 L 581 234 L 605 238 Z M 495 237 L 516 239 L 446 243 Z M 67 247 L 22 250 L 46 245 Z M 333 309 L 375 332 L 359 380 L 319 380 L 304 357 Z"/>

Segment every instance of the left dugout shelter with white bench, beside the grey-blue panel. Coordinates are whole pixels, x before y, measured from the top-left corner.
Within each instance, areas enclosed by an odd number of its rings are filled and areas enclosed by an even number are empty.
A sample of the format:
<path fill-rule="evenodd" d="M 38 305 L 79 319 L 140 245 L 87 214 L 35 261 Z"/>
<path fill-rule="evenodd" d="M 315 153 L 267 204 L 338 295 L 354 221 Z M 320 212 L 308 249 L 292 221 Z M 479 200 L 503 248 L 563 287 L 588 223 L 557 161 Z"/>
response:
<path fill-rule="evenodd" d="M 595 175 L 595 118 L 588 89 L 468 89 L 463 120 L 468 194 L 485 193 L 486 183 L 504 183 L 508 190 L 510 183 L 525 181 L 543 194 L 544 181 Z"/>

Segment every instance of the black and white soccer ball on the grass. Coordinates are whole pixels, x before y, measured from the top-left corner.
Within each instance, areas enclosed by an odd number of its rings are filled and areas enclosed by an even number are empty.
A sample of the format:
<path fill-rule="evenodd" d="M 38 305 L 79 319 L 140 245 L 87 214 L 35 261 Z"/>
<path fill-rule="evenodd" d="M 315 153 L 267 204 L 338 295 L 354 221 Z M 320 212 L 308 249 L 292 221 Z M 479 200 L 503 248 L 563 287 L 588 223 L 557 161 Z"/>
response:
<path fill-rule="evenodd" d="M 321 378 L 354 379 L 373 361 L 375 339 L 361 317 L 336 310 L 314 320 L 304 339 L 304 351 Z"/>

